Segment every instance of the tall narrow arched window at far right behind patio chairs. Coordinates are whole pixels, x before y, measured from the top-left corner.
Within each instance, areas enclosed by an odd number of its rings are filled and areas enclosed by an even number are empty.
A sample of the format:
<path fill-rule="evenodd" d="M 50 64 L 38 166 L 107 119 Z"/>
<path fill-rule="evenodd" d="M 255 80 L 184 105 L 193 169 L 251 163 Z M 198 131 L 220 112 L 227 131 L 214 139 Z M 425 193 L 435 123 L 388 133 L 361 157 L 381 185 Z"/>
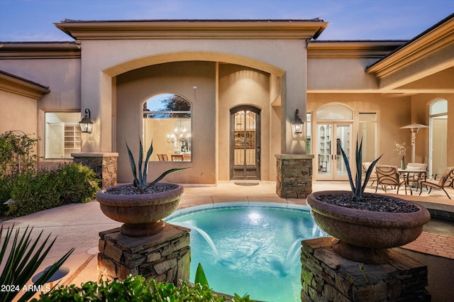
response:
<path fill-rule="evenodd" d="M 448 101 L 434 101 L 429 120 L 429 174 L 443 174 L 448 162 Z"/>

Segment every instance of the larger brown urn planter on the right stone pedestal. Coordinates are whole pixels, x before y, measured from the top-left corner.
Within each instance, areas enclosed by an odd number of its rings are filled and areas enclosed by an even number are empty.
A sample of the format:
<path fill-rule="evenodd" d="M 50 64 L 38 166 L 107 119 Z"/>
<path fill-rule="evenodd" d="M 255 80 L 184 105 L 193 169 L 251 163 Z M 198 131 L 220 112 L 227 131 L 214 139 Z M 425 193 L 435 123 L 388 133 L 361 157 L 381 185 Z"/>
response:
<path fill-rule="evenodd" d="M 426 208 L 416 203 L 395 198 L 415 206 L 410 213 L 365 211 L 336 206 L 319 200 L 323 194 L 350 194 L 350 191 L 319 191 L 310 194 L 307 203 L 317 225 L 333 239 L 333 249 L 353 261 L 380 264 L 389 261 L 388 250 L 416 240 L 423 225 L 431 218 Z M 380 196 L 380 194 L 371 194 Z"/>

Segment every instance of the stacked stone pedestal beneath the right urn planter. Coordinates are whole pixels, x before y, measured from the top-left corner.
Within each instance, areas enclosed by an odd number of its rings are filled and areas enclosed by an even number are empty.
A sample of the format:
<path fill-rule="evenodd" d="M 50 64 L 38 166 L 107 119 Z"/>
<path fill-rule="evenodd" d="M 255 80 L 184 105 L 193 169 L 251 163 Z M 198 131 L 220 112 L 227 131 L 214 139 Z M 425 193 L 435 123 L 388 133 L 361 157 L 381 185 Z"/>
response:
<path fill-rule="evenodd" d="M 362 264 L 336 254 L 333 237 L 304 240 L 301 301 L 431 301 L 427 267 L 390 249 L 387 264 Z"/>

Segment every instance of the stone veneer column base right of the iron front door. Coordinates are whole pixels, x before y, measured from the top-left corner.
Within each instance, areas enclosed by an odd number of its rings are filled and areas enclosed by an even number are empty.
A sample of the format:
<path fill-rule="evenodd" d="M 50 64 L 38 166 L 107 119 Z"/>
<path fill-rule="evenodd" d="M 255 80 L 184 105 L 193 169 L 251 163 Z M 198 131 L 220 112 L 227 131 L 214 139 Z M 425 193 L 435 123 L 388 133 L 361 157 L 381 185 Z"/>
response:
<path fill-rule="evenodd" d="M 314 155 L 277 154 L 276 194 L 281 198 L 306 198 L 312 193 Z"/>

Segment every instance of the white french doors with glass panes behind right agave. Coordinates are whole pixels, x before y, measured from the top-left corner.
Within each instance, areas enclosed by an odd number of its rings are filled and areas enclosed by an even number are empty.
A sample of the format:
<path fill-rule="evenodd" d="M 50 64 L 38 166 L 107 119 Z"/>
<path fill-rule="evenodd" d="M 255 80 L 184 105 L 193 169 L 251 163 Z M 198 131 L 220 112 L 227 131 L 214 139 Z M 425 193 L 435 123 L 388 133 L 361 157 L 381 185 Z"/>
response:
<path fill-rule="evenodd" d="M 349 162 L 350 159 L 354 159 L 350 140 L 351 127 L 351 123 L 325 122 L 317 124 L 317 180 L 348 179 L 341 147 Z M 351 164 L 350 167 L 352 167 Z"/>

